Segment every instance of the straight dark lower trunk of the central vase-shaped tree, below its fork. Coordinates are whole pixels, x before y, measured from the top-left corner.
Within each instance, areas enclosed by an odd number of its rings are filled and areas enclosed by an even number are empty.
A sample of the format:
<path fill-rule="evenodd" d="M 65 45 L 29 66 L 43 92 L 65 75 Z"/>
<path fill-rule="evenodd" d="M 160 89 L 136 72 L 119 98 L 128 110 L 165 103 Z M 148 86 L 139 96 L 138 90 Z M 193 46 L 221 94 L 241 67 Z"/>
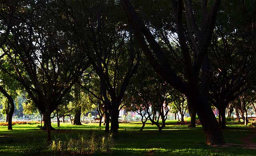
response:
<path fill-rule="evenodd" d="M 118 133 L 118 128 L 119 128 L 118 117 L 119 117 L 118 104 L 113 104 L 111 109 L 111 128 L 110 128 L 110 131 L 112 133 Z"/>

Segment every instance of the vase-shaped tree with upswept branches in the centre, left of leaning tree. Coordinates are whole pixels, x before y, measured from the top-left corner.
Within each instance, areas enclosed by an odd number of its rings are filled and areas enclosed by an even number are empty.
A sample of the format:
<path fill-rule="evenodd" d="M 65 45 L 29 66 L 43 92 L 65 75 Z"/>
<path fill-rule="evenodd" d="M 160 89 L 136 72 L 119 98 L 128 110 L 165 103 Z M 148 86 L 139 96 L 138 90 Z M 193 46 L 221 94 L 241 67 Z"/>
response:
<path fill-rule="evenodd" d="M 110 131 L 117 133 L 119 109 L 128 82 L 138 68 L 140 50 L 130 29 L 122 25 L 122 10 L 115 0 L 63 4 L 69 6 L 66 10 L 72 8 L 67 16 L 100 78 L 101 100 L 111 116 Z"/>

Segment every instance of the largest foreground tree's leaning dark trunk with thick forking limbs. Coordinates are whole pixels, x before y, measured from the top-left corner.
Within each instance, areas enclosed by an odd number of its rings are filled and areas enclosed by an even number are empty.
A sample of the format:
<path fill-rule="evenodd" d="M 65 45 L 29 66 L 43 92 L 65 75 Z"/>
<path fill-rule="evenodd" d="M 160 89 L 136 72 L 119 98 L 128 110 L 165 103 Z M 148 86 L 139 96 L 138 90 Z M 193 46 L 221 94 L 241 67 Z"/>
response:
<path fill-rule="evenodd" d="M 172 0 L 175 14 L 171 15 L 176 19 L 175 33 L 178 35 L 182 61 L 186 71 L 183 74 L 184 77 L 178 76 L 172 68 L 173 64 L 169 64 L 170 61 L 161 45 L 156 42 L 150 30 L 140 20 L 129 0 L 122 0 L 121 2 L 128 21 L 134 30 L 134 35 L 150 65 L 168 84 L 185 94 L 196 110 L 205 132 L 206 144 L 224 144 L 223 134 L 208 99 L 210 80 L 208 77 L 207 51 L 215 28 L 220 0 L 214 0 L 213 3 L 208 3 L 207 0 L 201 1 L 202 11 L 198 14 L 201 17 L 201 25 L 198 25 L 200 22 L 196 19 L 191 0 Z M 184 28 L 183 13 L 185 13 L 187 30 Z M 188 45 L 188 43 L 191 44 Z M 172 46 L 170 46 L 170 52 L 173 52 Z M 200 76 L 201 67 L 202 75 Z M 202 79 L 200 82 L 199 76 Z M 182 78 L 186 78 L 186 81 Z"/>

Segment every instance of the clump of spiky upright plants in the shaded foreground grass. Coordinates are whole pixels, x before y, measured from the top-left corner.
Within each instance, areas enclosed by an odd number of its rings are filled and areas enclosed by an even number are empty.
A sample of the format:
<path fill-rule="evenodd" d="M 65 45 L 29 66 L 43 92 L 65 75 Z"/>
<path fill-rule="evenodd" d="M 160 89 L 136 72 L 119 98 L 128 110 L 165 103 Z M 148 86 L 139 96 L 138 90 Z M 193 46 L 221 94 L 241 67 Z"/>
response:
<path fill-rule="evenodd" d="M 64 140 L 55 138 L 49 146 L 54 155 L 109 153 L 113 147 L 113 134 L 97 137 L 94 133 L 90 136 L 88 134 L 79 135 L 77 139 L 70 138 L 65 134 Z"/>

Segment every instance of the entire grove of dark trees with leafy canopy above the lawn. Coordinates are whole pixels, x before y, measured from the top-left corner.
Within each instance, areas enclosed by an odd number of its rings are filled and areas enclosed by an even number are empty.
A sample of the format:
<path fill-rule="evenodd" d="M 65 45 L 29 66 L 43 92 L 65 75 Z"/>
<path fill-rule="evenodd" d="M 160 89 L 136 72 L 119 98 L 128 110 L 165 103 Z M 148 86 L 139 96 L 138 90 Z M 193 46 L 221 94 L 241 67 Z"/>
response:
<path fill-rule="evenodd" d="M 50 141 L 55 117 L 97 110 L 118 134 L 122 108 L 159 132 L 189 112 L 225 144 L 226 116 L 256 115 L 255 15 L 254 0 L 0 0 L 1 114 L 12 130 L 38 112 Z"/>

